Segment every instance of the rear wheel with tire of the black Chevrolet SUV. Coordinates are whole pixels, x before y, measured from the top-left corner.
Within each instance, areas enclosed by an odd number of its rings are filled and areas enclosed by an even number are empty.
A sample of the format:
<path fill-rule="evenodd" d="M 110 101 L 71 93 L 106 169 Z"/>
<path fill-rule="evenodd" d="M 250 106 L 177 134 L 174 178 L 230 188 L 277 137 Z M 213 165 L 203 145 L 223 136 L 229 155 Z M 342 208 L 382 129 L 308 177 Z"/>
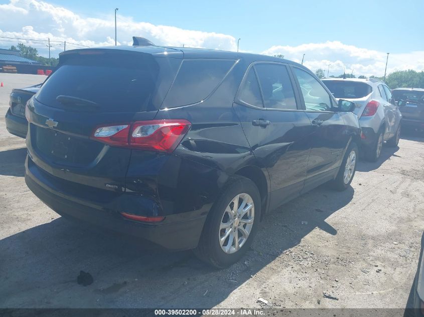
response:
<path fill-rule="evenodd" d="M 194 253 L 217 268 L 237 262 L 252 244 L 260 212 L 261 200 L 256 185 L 248 178 L 234 176 L 209 211 Z"/>

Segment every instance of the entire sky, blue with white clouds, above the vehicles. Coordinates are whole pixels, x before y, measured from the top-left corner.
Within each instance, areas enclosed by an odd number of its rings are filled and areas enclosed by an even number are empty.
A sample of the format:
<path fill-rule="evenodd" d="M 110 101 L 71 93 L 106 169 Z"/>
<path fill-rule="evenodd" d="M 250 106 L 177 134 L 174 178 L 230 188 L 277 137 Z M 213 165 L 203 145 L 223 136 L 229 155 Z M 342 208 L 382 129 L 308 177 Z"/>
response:
<path fill-rule="evenodd" d="M 424 0 L 350 1 L 41 1 L 0 0 L 0 48 L 23 38 L 79 45 L 118 45 L 142 36 L 156 45 L 284 55 L 327 75 L 383 76 L 424 70 Z M 3 37 L 3 38 L 2 38 Z M 46 42 L 19 42 L 48 57 Z M 72 44 L 71 44 L 72 43 Z M 51 42 L 51 55 L 63 51 Z"/>

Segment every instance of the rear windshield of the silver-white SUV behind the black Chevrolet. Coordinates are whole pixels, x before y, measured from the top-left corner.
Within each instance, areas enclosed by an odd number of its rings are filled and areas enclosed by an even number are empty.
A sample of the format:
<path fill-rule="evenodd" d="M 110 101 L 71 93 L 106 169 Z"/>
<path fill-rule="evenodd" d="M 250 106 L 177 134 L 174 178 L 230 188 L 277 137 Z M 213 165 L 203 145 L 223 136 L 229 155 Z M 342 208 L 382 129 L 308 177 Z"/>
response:
<path fill-rule="evenodd" d="M 361 82 L 324 80 L 323 83 L 336 98 L 358 99 L 368 96 L 372 91 L 371 86 Z"/>

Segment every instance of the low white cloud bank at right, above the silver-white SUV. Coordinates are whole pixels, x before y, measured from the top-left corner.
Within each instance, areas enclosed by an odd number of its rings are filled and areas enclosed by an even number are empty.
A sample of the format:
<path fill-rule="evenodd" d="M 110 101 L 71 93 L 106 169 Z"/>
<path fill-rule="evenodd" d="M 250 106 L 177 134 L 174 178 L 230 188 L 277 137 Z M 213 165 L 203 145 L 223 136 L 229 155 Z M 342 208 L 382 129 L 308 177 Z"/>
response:
<path fill-rule="evenodd" d="M 273 46 L 262 52 L 265 55 L 284 55 L 285 58 L 300 63 L 305 54 L 304 65 L 311 70 L 322 68 L 326 74 L 330 64 L 330 75 L 346 73 L 366 76 L 382 76 L 386 65 L 387 54 L 346 45 L 339 41 L 310 43 L 299 46 Z M 402 54 L 389 54 L 387 73 L 396 70 L 424 69 L 424 51 Z"/>

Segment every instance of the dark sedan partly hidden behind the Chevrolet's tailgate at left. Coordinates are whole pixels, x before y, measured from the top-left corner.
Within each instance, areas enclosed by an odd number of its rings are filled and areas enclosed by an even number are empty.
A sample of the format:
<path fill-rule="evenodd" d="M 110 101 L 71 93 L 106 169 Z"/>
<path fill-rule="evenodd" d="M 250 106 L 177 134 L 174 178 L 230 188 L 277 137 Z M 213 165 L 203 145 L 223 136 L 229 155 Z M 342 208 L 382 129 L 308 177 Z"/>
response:
<path fill-rule="evenodd" d="M 28 121 L 25 118 L 25 105 L 34 96 L 42 84 L 12 89 L 9 109 L 6 113 L 6 129 L 9 133 L 24 138 L 27 136 Z"/>

